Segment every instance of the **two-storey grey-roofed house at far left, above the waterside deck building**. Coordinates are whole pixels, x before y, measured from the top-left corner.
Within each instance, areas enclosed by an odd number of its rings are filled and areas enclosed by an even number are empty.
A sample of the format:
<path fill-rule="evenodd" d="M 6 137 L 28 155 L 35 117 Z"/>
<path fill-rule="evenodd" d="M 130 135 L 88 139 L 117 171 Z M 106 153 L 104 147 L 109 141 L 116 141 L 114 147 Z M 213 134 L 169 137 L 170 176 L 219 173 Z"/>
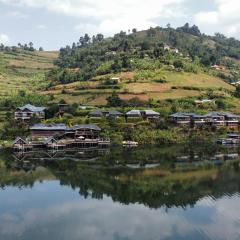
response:
<path fill-rule="evenodd" d="M 26 104 L 23 107 L 18 107 L 15 110 L 14 118 L 16 120 L 29 121 L 31 118 L 36 117 L 39 119 L 45 118 L 45 107 L 36 107 L 31 104 Z"/>

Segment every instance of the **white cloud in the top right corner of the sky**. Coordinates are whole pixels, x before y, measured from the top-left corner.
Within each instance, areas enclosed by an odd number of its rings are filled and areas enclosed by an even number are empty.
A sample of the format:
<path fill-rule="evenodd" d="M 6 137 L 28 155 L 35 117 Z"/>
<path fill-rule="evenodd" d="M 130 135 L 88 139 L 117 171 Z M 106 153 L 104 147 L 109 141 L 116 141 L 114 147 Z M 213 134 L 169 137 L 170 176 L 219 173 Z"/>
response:
<path fill-rule="evenodd" d="M 209 33 L 222 32 L 240 37 L 240 1 L 214 0 L 216 10 L 198 12 L 194 21 Z"/>

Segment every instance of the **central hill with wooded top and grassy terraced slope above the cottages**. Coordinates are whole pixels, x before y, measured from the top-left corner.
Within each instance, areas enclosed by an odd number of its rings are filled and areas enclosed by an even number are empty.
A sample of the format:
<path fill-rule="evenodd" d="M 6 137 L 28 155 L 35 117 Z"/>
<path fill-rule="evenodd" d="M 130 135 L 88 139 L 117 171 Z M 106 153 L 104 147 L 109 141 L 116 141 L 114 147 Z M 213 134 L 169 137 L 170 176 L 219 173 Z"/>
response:
<path fill-rule="evenodd" d="M 112 38 L 85 34 L 60 49 L 57 68 L 47 74 L 45 94 L 56 100 L 104 105 L 113 92 L 123 100 L 147 101 L 231 97 L 240 80 L 240 42 L 221 34 L 206 36 L 196 26 L 150 28 Z M 219 65 L 220 68 L 212 68 Z M 112 77 L 120 78 L 110 82 Z"/>

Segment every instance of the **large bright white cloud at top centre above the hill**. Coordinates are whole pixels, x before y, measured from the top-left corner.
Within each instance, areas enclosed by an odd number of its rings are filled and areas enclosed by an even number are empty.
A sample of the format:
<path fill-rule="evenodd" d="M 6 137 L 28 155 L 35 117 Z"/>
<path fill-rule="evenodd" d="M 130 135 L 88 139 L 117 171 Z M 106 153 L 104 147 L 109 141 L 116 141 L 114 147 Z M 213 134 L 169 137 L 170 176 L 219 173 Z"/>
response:
<path fill-rule="evenodd" d="M 79 19 L 78 32 L 113 34 L 120 30 L 139 30 L 156 26 L 154 19 L 181 15 L 186 0 L 0 0 L 18 7 L 42 8 Z"/>

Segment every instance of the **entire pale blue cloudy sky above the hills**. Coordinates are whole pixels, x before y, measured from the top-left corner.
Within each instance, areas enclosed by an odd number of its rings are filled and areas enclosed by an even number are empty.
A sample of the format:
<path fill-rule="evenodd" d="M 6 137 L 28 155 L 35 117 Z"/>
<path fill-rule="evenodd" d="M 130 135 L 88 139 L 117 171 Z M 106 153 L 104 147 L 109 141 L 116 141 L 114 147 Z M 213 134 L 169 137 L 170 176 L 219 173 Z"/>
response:
<path fill-rule="evenodd" d="M 0 43 L 58 50 L 79 37 L 189 22 L 240 39 L 239 0 L 0 0 Z"/>

